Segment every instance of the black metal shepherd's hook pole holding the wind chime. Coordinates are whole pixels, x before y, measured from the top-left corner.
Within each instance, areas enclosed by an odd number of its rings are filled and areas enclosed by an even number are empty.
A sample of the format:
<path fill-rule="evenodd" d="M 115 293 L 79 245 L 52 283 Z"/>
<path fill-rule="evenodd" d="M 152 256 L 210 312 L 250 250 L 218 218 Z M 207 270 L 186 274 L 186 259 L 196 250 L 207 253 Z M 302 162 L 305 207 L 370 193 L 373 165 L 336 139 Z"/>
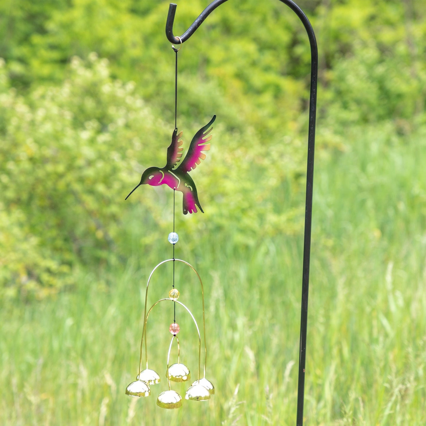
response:
<path fill-rule="evenodd" d="M 178 38 L 173 35 L 176 4 L 170 3 L 167 15 L 166 35 L 171 43 L 184 43 L 207 16 L 227 0 L 214 0 L 193 24 Z M 312 186 L 314 182 L 315 117 L 317 112 L 318 49 L 314 30 L 302 9 L 292 0 L 279 0 L 292 9 L 305 26 L 311 45 L 311 93 L 309 98 L 308 170 L 306 172 L 305 237 L 303 245 L 302 313 L 300 320 L 299 384 L 297 392 L 296 426 L 303 424 L 303 397 L 305 392 L 306 331 L 308 324 L 309 260 L 311 256 Z"/>

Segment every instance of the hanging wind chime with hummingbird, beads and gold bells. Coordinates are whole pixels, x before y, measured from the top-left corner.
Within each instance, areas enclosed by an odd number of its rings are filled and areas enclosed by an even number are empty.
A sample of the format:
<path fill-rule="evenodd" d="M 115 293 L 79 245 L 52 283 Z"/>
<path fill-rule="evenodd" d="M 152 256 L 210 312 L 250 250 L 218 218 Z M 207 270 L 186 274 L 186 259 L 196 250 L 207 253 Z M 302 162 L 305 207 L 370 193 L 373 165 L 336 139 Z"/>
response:
<path fill-rule="evenodd" d="M 179 37 L 178 37 L 179 38 Z M 182 41 L 180 40 L 179 49 L 181 48 Z M 150 316 L 151 311 L 155 306 L 162 302 L 173 302 L 174 305 L 174 317 L 173 323 L 170 324 L 169 331 L 172 334 L 172 339 L 170 341 L 169 351 L 167 353 L 167 368 L 166 368 L 166 377 L 168 390 L 161 392 L 157 398 L 157 405 L 161 408 L 174 409 L 179 408 L 182 405 L 181 396 L 174 390 L 170 389 L 170 381 L 172 382 L 185 382 L 190 380 L 190 370 L 187 366 L 180 362 L 180 345 L 177 334 L 179 333 L 179 325 L 176 322 L 176 304 L 182 306 L 187 314 L 192 318 L 198 333 L 199 339 L 199 349 L 198 349 L 198 371 L 197 371 L 197 380 L 195 380 L 190 388 L 186 391 L 185 399 L 194 400 L 194 401 L 206 401 L 210 399 L 210 395 L 214 394 L 213 384 L 206 379 L 206 363 L 207 363 L 207 344 L 206 344 L 206 333 L 205 333 L 205 316 L 204 316 L 204 289 L 203 283 L 198 272 L 195 268 L 190 265 L 188 262 L 185 262 L 181 259 L 175 258 L 175 245 L 178 242 L 178 234 L 175 232 L 175 194 L 176 191 L 180 191 L 183 194 L 183 213 L 196 213 L 197 207 L 204 213 L 201 208 L 200 202 L 198 200 L 197 189 L 193 179 L 190 177 L 189 172 L 197 167 L 197 164 L 200 164 L 201 160 L 206 158 L 206 155 L 203 151 L 210 150 L 210 144 L 207 143 L 212 138 L 210 134 L 213 124 L 213 121 L 216 119 L 216 115 L 213 115 L 213 118 L 206 124 L 204 127 L 196 132 L 192 141 L 190 143 L 187 155 L 181 161 L 182 157 L 182 134 L 183 132 L 178 133 L 178 128 L 176 124 L 177 117 L 177 86 L 178 86 L 178 50 L 172 44 L 172 48 L 176 55 L 176 67 L 175 67 L 175 130 L 172 134 L 172 142 L 167 148 L 167 164 L 160 167 L 148 167 L 147 170 L 142 173 L 141 181 L 139 184 L 130 192 L 138 188 L 140 185 L 148 184 L 151 186 L 159 186 L 166 184 L 168 187 L 173 189 L 173 232 L 168 236 L 168 241 L 173 245 L 173 258 L 164 260 L 160 262 L 153 271 L 150 273 L 147 282 L 147 289 L 145 292 L 145 311 L 144 311 L 144 325 L 142 328 L 142 338 L 141 338 L 141 351 L 140 351 L 140 360 L 139 360 L 139 372 L 136 377 L 136 380 L 130 383 L 126 388 L 126 394 L 133 397 L 147 397 L 150 395 L 151 390 L 150 386 L 155 385 L 160 382 L 160 375 L 154 370 L 148 368 L 148 351 L 147 351 L 147 322 L 148 317 Z M 178 167 L 176 167 L 176 165 Z M 176 168 L 175 168 L 176 167 Z M 126 199 L 130 196 L 126 197 Z M 161 266 L 167 262 L 173 262 L 173 288 L 169 291 L 169 297 L 160 299 L 155 302 L 150 309 L 147 310 L 147 299 L 148 299 L 148 288 L 150 285 L 151 278 L 153 273 Z M 198 323 L 193 316 L 192 312 L 184 305 L 182 302 L 178 301 L 180 293 L 177 288 L 175 288 L 175 264 L 176 262 L 181 262 L 184 265 L 187 265 L 198 277 L 201 285 L 201 299 L 202 299 L 202 308 L 203 308 L 203 335 L 204 335 L 204 369 L 203 376 L 201 377 L 201 334 L 199 330 Z M 146 367 L 142 370 L 142 350 L 145 340 L 145 361 Z M 178 350 L 178 362 L 169 366 L 170 363 L 170 352 L 172 349 L 173 341 L 176 340 L 177 350 Z"/>

